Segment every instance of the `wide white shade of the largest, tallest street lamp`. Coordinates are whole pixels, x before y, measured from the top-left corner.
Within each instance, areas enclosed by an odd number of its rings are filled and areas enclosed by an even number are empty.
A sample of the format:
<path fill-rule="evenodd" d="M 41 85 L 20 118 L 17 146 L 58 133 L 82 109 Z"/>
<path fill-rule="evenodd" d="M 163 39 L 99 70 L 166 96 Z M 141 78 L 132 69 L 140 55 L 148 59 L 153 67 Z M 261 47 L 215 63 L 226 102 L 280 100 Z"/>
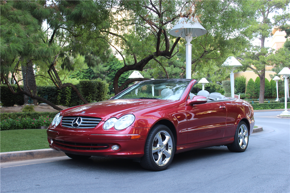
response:
<path fill-rule="evenodd" d="M 180 21 L 170 30 L 169 34 L 175 37 L 191 35 L 192 37 L 202 36 L 207 33 L 207 30 L 196 21 L 186 21 L 187 18 L 181 18 Z"/>

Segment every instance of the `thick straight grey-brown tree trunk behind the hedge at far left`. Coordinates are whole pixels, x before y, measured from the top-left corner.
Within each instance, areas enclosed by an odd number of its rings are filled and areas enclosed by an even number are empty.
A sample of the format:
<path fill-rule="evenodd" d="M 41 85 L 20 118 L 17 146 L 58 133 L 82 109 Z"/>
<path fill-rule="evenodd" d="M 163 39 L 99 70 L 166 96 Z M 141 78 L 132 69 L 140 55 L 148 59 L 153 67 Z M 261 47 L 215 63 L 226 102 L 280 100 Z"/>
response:
<path fill-rule="evenodd" d="M 37 96 L 37 87 L 35 82 L 35 74 L 33 71 L 32 61 L 29 60 L 26 64 L 21 65 L 24 91 L 32 92 L 33 96 Z M 24 104 L 28 104 L 28 96 L 24 95 Z M 33 104 L 37 105 L 37 100 L 33 99 Z"/>

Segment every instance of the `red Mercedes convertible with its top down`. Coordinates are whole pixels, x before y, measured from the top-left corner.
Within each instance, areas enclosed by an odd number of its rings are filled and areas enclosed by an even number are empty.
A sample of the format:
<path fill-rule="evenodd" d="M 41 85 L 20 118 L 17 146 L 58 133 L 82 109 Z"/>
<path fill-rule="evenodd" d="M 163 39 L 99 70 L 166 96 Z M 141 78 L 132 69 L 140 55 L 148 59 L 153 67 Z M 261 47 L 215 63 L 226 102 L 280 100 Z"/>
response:
<path fill-rule="evenodd" d="M 175 153 L 210 146 L 247 149 L 255 124 L 244 100 L 202 90 L 196 80 L 148 80 L 110 100 L 64 109 L 47 129 L 50 148 L 73 159 L 130 158 L 165 170 Z"/>

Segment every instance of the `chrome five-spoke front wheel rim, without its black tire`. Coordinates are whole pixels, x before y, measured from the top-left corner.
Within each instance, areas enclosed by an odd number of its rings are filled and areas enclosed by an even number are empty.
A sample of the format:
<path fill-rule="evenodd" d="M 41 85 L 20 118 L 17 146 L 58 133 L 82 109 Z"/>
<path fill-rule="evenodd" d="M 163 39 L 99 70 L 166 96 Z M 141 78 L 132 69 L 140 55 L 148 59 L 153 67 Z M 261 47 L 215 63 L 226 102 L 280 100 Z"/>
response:
<path fill-rule="evenodd" d="M 152 155 L 158 166 L 166 165 L 173 152 L 173 143 L 170 134 L 167 131 L 159 131 L 153 140 Z"/>

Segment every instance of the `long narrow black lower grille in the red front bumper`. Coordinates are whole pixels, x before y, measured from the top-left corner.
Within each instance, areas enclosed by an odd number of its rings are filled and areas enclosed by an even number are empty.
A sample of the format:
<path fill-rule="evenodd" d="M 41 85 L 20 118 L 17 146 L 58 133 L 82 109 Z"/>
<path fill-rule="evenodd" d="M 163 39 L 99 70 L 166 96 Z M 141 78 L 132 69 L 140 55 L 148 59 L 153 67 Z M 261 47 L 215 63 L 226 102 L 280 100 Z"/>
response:
<path fill-rule="evenodd" d="M 53 143 L 57 146 L 75 149 L 75 150 L 104 150 L 108 149 L 108 144 L 85 144 L 85 143 L 74 143 L 68 141 L 53 140 Z"/>

